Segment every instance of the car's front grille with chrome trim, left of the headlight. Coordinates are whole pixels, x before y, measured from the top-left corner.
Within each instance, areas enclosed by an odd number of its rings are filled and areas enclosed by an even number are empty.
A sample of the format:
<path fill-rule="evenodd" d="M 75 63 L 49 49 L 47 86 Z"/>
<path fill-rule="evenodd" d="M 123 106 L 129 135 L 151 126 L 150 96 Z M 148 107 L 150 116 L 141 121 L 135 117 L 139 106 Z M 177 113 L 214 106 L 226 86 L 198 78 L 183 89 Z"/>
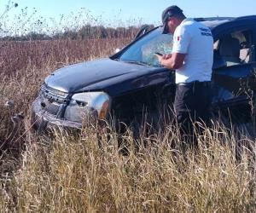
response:
<path fill-rule="evenodd" d="M 67 103 L 67 93 L 43 85 L 39 95 L 39 104 L 49 114 L 57 116 L 64 104 Z"/>

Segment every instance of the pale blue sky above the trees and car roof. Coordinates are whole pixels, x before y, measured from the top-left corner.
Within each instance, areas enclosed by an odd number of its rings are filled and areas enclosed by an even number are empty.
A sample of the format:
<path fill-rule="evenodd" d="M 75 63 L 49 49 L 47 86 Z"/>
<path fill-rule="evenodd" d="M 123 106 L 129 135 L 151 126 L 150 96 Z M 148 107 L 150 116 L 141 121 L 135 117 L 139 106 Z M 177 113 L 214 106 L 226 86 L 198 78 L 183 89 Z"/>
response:
<path fill-rule="evenodd" d="M 9 0 L 0 0 L 0 16 Z M 256 1 L 247 0 L 11 0 L 19 4 L 12 9 L 9 17 L 20 14 L 27 7 L 28 14 L 33 9 L 35 15 L 58 20 L 61 14 L 68 17 L 78 14 L 84 8 L 90 15 L 103 20 L 141 20 L 143 23 L 160 24 L 161 13 L 166 7 L 176 4 L 188 17 L 241 16 L 256 14 Z"/>

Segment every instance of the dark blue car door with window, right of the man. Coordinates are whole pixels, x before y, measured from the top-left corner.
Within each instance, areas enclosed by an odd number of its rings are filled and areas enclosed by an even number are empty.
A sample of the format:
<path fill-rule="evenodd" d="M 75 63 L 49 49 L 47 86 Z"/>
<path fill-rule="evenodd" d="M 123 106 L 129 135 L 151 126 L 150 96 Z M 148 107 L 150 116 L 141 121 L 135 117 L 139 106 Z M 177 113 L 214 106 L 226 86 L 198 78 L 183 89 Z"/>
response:
<path fill-rule="evenodd" d="M 248 105 L 256 89 L 255 27 L 238 26 L 215 37 L 212 107 L 238 109 Z"/>

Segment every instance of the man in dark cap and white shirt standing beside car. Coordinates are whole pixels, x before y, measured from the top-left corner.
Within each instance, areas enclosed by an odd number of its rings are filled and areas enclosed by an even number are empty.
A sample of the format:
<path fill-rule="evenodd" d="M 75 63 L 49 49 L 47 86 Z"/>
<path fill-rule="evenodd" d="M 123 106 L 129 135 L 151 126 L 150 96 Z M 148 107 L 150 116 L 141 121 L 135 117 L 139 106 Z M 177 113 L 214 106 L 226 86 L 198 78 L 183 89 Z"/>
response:
<path fill-rule="evenodd" d="M 196 142 L 193 123 L 209 123 L 212 32 L 200 22 L 187 19 L 183 10 L 177 6 L 165 9 L 162 22 L 163 33 L 173 34 L 173 48 L 172 55 L 158 55 L 158 59 L 162 66 L 176 69 L 174 110 L 177 124 L 180 126 L 183 141 L 193 143 Z"/>

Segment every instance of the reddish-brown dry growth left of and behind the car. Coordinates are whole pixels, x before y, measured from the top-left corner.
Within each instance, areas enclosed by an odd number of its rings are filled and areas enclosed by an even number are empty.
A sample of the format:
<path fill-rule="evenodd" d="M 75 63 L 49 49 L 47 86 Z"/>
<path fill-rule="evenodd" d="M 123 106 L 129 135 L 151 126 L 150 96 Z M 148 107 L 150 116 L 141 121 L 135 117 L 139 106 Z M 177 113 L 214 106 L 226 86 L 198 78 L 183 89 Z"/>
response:
<path fill-rule="evenodd" d="M 129 38 L 0 43 L 0 176 L 12 173 L 30 133 L 31 105 L 56 68 L 113 54 Z M 33 139 L 38 140 L 38 139 Z"/>

